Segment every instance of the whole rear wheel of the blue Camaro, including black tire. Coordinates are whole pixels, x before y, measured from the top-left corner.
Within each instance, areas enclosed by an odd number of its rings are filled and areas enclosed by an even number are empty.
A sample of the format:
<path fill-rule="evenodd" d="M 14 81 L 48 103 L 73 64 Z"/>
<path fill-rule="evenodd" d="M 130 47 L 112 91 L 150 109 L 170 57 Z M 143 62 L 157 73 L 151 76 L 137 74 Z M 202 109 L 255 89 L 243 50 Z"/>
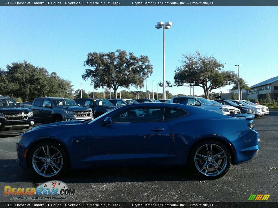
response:
<path fill-rule="evenodd" d="M 221 178 L 226 174 L 230 165 L 231 155 L 228 149 L 217 141 L 200 142 L 192 149 L 190 154 L 192 170 L 203 179 L 215 180 Z"/>

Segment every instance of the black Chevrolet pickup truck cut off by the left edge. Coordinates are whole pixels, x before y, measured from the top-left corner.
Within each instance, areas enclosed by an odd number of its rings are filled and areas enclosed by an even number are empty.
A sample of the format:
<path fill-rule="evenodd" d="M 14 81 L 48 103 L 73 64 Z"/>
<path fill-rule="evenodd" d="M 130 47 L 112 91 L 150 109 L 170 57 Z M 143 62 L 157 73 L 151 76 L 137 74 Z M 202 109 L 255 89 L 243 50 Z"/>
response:
<path fill-rule="evenodd" d="M 0 96 L 0 135 L 17 134 L 32 129 L 33 113 L 9 97 Z"/>

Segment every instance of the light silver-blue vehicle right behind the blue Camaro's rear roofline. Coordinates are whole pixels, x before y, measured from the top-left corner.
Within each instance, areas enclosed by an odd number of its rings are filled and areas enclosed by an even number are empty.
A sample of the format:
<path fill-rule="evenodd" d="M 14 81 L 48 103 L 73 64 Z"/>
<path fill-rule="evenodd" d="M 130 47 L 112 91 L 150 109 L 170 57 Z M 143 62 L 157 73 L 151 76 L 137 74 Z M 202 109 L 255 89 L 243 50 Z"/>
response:
<path fill-rule="evenodd" d="M 209 100 L 202 97 L 193 97 L 193 96 L 180 96 L 180 97 L 172 97 L 170 103 L 180 103 L 184 105 L 193 105 L 196 107 L 200 107 L 205 110 L 214 111 L 220 114 L 230 114 L 230 111 L 235 112 L 235 109 L 229 109 L 226 106 L 221 104 L 214 105 Z"/>

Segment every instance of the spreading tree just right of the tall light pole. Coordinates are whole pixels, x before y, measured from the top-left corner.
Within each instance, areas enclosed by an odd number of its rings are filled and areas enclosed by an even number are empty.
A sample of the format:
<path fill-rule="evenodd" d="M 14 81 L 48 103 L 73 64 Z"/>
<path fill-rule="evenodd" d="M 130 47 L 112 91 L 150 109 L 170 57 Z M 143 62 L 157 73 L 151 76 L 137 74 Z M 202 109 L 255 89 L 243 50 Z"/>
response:
<path fill-rule="evenodd" d="M 224 63 L 217 62 L 214 56 L 202 56 L 196 51 L 182 57 L 182 65 L 175 70 L 173 85 L 167 81 L 167 86 L 199 86 L 208 99 L 210 91 L 230 85 L 236 79 L 235 72 L 222 71 Z"/>

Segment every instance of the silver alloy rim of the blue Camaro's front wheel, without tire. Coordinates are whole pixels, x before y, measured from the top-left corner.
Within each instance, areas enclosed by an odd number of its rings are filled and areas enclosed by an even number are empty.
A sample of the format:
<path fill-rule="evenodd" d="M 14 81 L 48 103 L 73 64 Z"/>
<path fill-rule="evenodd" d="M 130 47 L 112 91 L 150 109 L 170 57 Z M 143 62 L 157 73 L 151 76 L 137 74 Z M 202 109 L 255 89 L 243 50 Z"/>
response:
<path fill-rule="evenodd" d="M 32 156 L 32 165 L 37 174 L 43 177 L 52 177 L 61 171 L 63 155 L 53 146 L 41 146 Z"/>

